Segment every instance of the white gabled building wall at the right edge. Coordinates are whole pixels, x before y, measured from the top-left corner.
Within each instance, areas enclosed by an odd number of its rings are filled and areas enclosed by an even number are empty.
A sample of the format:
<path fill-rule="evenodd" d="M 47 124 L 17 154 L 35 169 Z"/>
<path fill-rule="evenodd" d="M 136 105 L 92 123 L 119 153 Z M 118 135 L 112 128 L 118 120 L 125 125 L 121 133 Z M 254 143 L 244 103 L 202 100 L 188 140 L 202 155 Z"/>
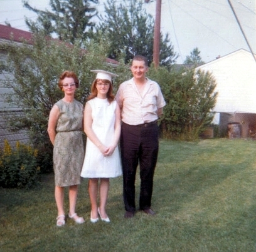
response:
<path fill-rule="evenodd" d="M 216 79 L 217 113 L 256 113 L 256 62 L 244 49 L 196 69 L 209 71 Z"/>

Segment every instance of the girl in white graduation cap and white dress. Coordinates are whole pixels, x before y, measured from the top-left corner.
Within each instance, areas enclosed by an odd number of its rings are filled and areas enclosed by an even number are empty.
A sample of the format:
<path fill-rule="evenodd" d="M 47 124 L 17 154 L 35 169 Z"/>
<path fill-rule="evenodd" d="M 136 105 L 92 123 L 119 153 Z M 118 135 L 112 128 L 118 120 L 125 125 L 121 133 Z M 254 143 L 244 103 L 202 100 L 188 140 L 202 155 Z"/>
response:
<path fill-rule="evenodd" d="M 91 94 L 85 104 L 84 127 L 87 145 L 81 176 L 89 178 L 88 192 L 92 207 L 90 221 L 95 223 L 100 216 L 102 221 L 110 222 L 105 210 L 109 178 L 122 175 L 118 148 L 120 109 L 112 94 L 112 76 L 116 75 L 103 70 L 92 72 L 97 73 L 97 77 L 92 83 Z"/>

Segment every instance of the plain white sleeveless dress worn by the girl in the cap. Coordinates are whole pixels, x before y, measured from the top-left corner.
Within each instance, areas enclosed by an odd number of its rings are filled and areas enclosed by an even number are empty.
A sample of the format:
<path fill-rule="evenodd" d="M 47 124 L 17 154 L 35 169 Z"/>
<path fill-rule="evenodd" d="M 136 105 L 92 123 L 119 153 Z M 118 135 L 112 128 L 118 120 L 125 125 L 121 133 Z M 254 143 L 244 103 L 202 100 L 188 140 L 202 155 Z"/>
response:
<path fill-rule="evenodd" d="M 109 146 L 114 138 L 116 101 L 93 98 L 88 101 L 92 108 L 92 130 L 100 141 Z M 122 175 L 119 148 L 111 156 L 103 156 L 99 148 L 87 138 L 85 159 L 81 176 L 83 178 L 115 178 Z"/>

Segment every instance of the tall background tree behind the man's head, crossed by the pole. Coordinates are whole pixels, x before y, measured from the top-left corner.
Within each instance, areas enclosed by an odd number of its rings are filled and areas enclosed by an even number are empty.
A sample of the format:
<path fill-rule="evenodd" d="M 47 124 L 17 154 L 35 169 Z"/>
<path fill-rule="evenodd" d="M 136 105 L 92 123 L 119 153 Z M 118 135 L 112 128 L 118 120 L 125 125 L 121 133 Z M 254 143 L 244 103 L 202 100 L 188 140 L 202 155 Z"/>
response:
<path fill-rule="evenodd" d="M 110 41 L 109 58 L 117 59 L 125 54 L 128 63 L 135 54 L 147 56 L 149 64 L 153 60 L 154 19 L 142 6 L 142 1 L 124 0 L 104 3 L 105 14 L 100 16 L 97 34 L 102 32 Z M 160 65 L 170 66 L 178 56 L 173 51 L 168 34 L 161 34 Z"/>

